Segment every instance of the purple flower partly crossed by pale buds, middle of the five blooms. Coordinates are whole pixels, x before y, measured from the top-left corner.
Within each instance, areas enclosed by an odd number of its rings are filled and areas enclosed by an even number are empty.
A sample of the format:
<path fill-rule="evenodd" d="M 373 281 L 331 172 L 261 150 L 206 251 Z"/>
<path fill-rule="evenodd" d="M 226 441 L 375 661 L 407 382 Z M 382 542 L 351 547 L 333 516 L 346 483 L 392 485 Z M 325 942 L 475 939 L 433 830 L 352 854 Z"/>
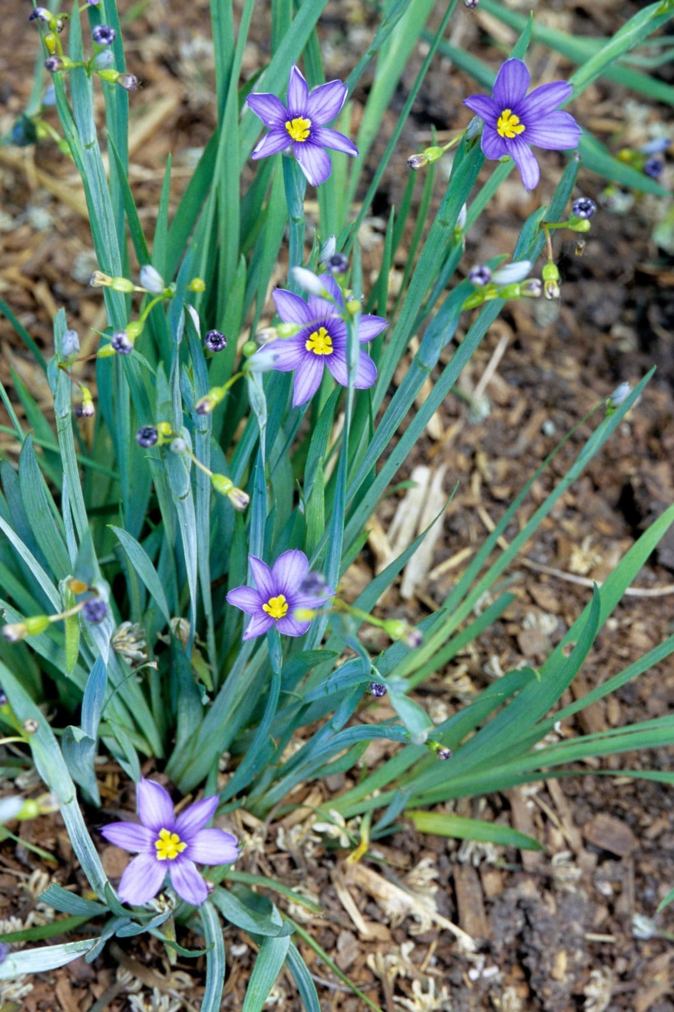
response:
<path fill-rule="evenodd" d="M 293 323 L 302 327 L 294 337 L 270 341 L 262 349 L 265 354 L 275 354 L 271 366 L 279 372 L 294 372 L 292 407 L 309 401 L 321 386 L 323 369 L 327 365 L 337 383 L 348 387 L 346 370 L 347 330 L 341 313 L 344 313 L 344 299 L 339 285 L 330 274 L 321 274 L 320 281 L 334 299 L 335 304 L 310 296 L 306 303 L 300 296 L 275 288 L 273 292 L 276 312 L 283 323 Z M 341 311 L 341 312 L 340 312 Z M 382 317 L 363 314 L 358 325 L 358 340 L 366 344 L 381 334 L 387 321 Z M 259 355 L 253 355 L 253 360 Z M 354 386 L 356 390 L 366 390 L 376 380 L 376 366 L 366 351 L 359 351 L 358 368 Z"/>

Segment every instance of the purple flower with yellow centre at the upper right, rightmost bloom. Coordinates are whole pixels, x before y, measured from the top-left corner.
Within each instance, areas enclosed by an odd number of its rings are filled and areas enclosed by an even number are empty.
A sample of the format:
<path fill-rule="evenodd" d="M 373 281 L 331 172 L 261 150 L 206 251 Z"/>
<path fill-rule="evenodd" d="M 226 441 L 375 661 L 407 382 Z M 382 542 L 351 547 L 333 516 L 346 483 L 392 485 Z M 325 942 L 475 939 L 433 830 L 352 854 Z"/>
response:
<path fill-rule="evenodd" d="M 551 151 L 578 147 L 582 131 L 570 112 L 558 108 L 571 95 L 566 81 L 541 84 L 526 94 L 529 72 L 521 60 L 507 60 L 497 74 L 492 97 L 471 95 L 464 105 L 473 109 L 485 125 L 482 150 L 486 158 L 514 160 L 527 190 L 533 189 L 540 169 L 530 144 Z"/>

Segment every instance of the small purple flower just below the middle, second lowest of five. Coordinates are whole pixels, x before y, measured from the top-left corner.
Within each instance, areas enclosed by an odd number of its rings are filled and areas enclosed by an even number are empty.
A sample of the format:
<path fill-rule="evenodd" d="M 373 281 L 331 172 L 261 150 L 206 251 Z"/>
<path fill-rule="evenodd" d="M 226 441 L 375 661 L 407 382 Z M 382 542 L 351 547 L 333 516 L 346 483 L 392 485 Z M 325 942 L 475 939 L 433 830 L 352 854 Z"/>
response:
<path fill-rule="evenodd" d="M 227 595 L 227 600 L 252 615 L 244 632 L 244 640 L 254 640 L 275 625 L 283 636 L 304 636 L 311 621 L 294 617 L 299 608 L 320 608 L 326 604 L 326 595 L 334 591 L 324 587 L 320 594 L 303 589 L 309 573 L 309 560 L 304 552 L 291 549 L 283 552 L 271 569 L 261 559 L 249 556 L 255 587 L 237 587 Z M 257 588 L 257 589 L 255 589 Z"/>

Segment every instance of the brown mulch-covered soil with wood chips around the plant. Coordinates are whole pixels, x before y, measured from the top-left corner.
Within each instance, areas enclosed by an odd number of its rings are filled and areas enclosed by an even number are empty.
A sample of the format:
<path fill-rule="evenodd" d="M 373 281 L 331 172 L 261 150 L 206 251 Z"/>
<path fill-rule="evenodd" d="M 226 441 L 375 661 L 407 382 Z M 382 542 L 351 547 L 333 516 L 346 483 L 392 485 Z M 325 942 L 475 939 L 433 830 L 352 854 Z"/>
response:
<path fill-rule="evenodd" d="M 23 106 L 34 54 L 23 6 L 14 6 L 21 10 L 3 12 L 0 134 Z M 131 0 L 119 4 L 122 12 L 133 6 Z M 137 144 L 131 182 L 149 234 L 167 154 L 172 152 L 174 157 L 175 200 L 191 171 L 191 149 L 202 146 L 214 128 L 207 2 L 194 0 L 184 8 L 173 5 L 173 10 L 169 6 L 154 0 L 127 29 L 131 69 L 146 83 L 132 101 Z M 612 0 L 519 5 L 526 10 L 530 6 L 549 24 L 597 35 L 615 31 L 640 5 L 623 2 L 618 5 L 619 13 Z M 268 53 L 267 7 L 260 4 L 259 14 L 256 11 L 244 60 L 246 76 L 259 68 Z M 354 54 L 361 52 L 369 37 L 370 20 L 369 7 L 361 6 L 359 0 L 329 5 L 321 33 L 324 59 L 334 76 L 345 76 L 352 66 Z M 501 26 L 497 47 L 486 34 L 493 29 L 494 22 L 487 15 L 470 15 L 459 6 L 451 31 L 456 45 L 496 66 L 513 39 Z M 418 65 L 415 57 L 406 69 L 370 155 L 373 166 Z M 569 71 L 561 58 L 536 46 L 529 66 L 534 79 L 543 74 L 546 80 L 563 77 Z M 368 80 L 365 77 L 355 94 L 356 117 Z M 367 268 L 377 267 L 389 207 L 400 198 L 406 178 L 407 156 L 426 146 L 430 122 L 439 132 L 464 125 L 467 116 L 460 101 L 475 90 L 479 89 L 466 75 L 436 61 L 361 236 Z M 617 86 L 599 83 L 588 89 L 575 112 L 615 151 L 644 143 L 648 124 L 664 118 L 666 110 L 643 105 Z M 552 193 L 562 170 L 557 154 L 544 154 L 543 161 L 546 172 L 535 195 L 527 195 L 514 177 L 501 188 L 469 235 L 467 268 L 512 250 L 523 219 Z M 438 198 L 440 188 L 438 179 Z M 578 192 L 596 198 L 601 188 L 601 181 L 581 168 Z M 0 297 L 49 357 L 51 321 L 58 308 L 66 307 L 71 326 L 80 334 L 101 321 L 100 297 L 86 287 L 95 264 L 81 214 L 81 191 L 72 166 L 51 144 L 44 143 L 36 150 L 0 149 L 0 193 L 6 216 L 0 223 Z M 618 382 L 635 382 L 652 364 L 658 365 L 641 403 L 565 494 L 527 545 L 525 559 L 512 569 L 515 602 L 488 635 L 420 690 L 419 697 L 439 720 L 464 705 L 500 671 L 522 662 L 539 663 L 587 602 L 591 581 L 603 579 L 639 533 L 672 502 L 672 271 L 652 240 L 653 226 L 662 215 L 662 202 L 652 198 L 638 198 L 626 216 L 598 214 L 580 259 L 574 256 L 573 243 L 558 237 L 556 250 L 565 276 L 559 312 L 543 302 L 509 305 L 461 377 L 465 396 L 447 399 L 436 423 L 418 443 L 415 457 L 401 471 L 399 480 L 408 478 L 418 466 L 428 467 L 432 475 L 444 468 L 445 488 L 459 483 L 429 571 L 409 601 L 396 595 L 386 602 L 388 615 L 400 613 L 418 620 L 437 607 L 460 574 L 465 557 L 458 554 L 481 543 L 489 524 L 498 520 L 561 434 Z M 403 252 L 398 270 L 404 261 Z M 13 368 L 48 412 L 51 397 L 41 373 L 2 319 L 0 342 L 0 380 L 11 388 Z M 497 348 L 502 357 L 486 390 L 489 405 L 480 419 L 469 410 L 467 399 Z M 2 422 L 6 424 L 6 419 Z M 520 511 L 519 525 L 567 470 L 590 430 L 591 425 L 582 428 L 552 474 L 535 484 Z M 17 445 L 11 437 L 0 435 L 0 448 L 15 461 Z M 388 500 L 382 507 L 378 521 L 384 534 L 397 505 L 397 500 Z M 508 537 L 517 529 L 513 525 Z M 362 557 L 349 571 L 354 591 L 371 579 L 375 565 L 386 557 L 386 539 L 377 533 L 373 531 Z M 623 599 L 574 683 L 574 696 L 600 684 L 671 635 L 673 572 L 674 538 L 670 534 L 638 580 L 639 587 L 649 588 L 654 596 Z M 672 705 L 673 694 L 674 669 L 671 662 L 664 662 L 580 713 L 561 733 L 595 733 L 663 715 Z M 569 694 L 566 701 L 571 698 Z M 386 706 L 376 710 L 377 716 L 388 714 Z M 384 750 L 372 749 L 368 754 L 370 768 L 377 754 L 382 756 Z M 615 775 L 592 776 L 595 766 Z M 397 1008 L 414 1012 L 572 1012 L 581 1008 L 588 1012 L 672 1012 L 672 948 L 657 937 L 658 930 L 673 930 L 672 914 L 655 918 L 656 934 L 650 938 L 633 925 L 635 915 L 654 918 L 658 903 L 674 884 L 671 791 L 658 783 L 620 776 L 623 769 L 670 766 L 671 755 L 664 751 L 628 754 L 586 763 L 575 777 L 520 788 L 507 796 L 455 804 L 459 815 L 498 819 L 532 833 L 545 845 L 541 854 L 459 846 L 423 837 L 412 828 L 377 843 L 364 867 L 406 884 L 417 895 L 425 891 L 432 897 L 440 915 L 479 940 L 479 954 L 470 959 L 460 953 L 449 931 L 438 929 L 421 914 L 415 919 L 378 905 L 374 898 L 378 880 L 368 879 L 366 873 L 354 876 L 342 862 L 346 852 L 330 846 L 325 837 L 307 835 L 306 824 L 303 829 L 302 823 L 289 817 L 261 827 L 239 813 L 231 825 L 239 835 L 250 838 L 239 865 L 242 870 L 273 875 L 320 899 L 323 914 L 305 920 L 308 931 L 387 1012 Z M 89 812 L 92 827 L 134 807 L 132 788 L 111 764 L 101 767 L 100 779 L 104 811 Z M 351 782 L 349 776 L 337 776 L 322 784 L 320 793 L 314 792 L 315 787 L 303 788 L 292 799 L 329 809 L 331 792 L 339 793 Z M 26 790 L 30 787 L 28 783 Z M 37 790 L 34 782 L 32 788 Z M 2 930 L 50 919 L 50 912 L 35 902 L 50 878 L 86 891 L 59 817 L 23 824 L 20 836 L 22 843 L 7 841 L 0 850 L 0 912 L 4 918 L 17 919 L 11 925 L 2 922 Z M 121 871 L 122 855 L 98 839 L 108 874 L 114 877 Z M 52 853 L 54 862 L 37 858 L 25 842 Z M 284 901 L 280 906 L 285 906 Z M 296 908 L 292 916 L 300 916 Z M 199 939 L 183 942 L 197 947 Z M 242 1005 L 254 946 L 234 929 L 227 931 L 226 945 L 223 1008 L 235 1010 Z M 356 1012 L 365 1007 L 304 942 L 300 948 L 316 977 L 324 1009 Z M 388 977 L 381 961 L 385 958 L 389 959 Z M 173 1012 L 198 1008 L 202 980 L 201 959 L 178 958 L 171 966 L 157 940 L 147 936 L 120 939 L 91 966 L 77 960 L 32 981 L 0 985 L 0 1008 L 3 1012 L 89 1012 L 96 1003 L 96 1012 L 103 1008 Z M 279 978 L 273 997 L 278 1008 L 299 1008 L 285 975 Z"/>

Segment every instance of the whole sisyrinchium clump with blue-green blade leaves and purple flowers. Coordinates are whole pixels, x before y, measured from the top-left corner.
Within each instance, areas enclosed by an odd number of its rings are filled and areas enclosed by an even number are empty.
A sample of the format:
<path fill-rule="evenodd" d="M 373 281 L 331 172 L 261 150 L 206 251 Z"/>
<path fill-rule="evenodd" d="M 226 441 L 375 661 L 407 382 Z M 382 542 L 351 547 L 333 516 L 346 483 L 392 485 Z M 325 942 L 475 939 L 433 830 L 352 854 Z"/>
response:
<path fill-rule="evenodd" d="M 238 870 L 237 840 L 209 827 L 214 817 L 240 808 L 259 819 L 289 812 L 294 787 L 353 769 L 378 738 L 396 745 L 392 757 L 330 798 L 338 835 L 346 833 L 340 828 L 346 819 L 362 817 L 353 859 L 406 813 L 423 832 L 535 848 L 535 840 L 507 827 L 426 809 L 564 775 L 579 760 L 674 741 L 672 718 L 553 745 L 545 740 L 557 722 L 674 650 L 670 637 L 560 708 L 597 635 L 674 519 L 674 507 L 594 588 L 539 668 L 506 672 L 437 727 L 414 697 L 417 686 L 507 608 L 513 595 L 503 574 L 601 451 L 650 374 L 633 390 L 618 388 L 560 442 L 441 607 L 417 626 L 383 615 L 377 602 L 425 533 L 355 600 L 343 589 L 370 516 L 506 302 L 564 299 L 554 238 L 557 230 L 587 233 L 596 210 L 577 189 L 581 165 L 611 183 L 665 195 L 653 162 L 662 146 L 614 158 L 576 121 L 577 113 L 561 106 L 573 109 L 592 82 L 616 74 L 637 92 L 671 102 L 671 86 L 618 63 L 671 19 L 670 0 L 645 6 L 607 40 L 551 37 L 498 0 L 483 0 L 521 31 L 498 73 L 445 39 L 451 19 L 472 16 L 477 0 L 393 0 L 377 8 L 377 26 L 367 49 L 354 54 L 346 81 L 327 83 L 318 30 L 326 0 L 268 6 L 245 0 L 235 31 L 233 3 L 212 3 L 218 125 L 179 198 L 169 159 L 153 236 L 129 181 L 129 103 L 142 69 L 127 66 L 115 0 L 76 2 L 72 10 L 51 0 L 26 11 L 41 52 L 12 139 L 56 142 L 73 159 L 98 260 L 91 284 L 101 292 L 106 326 L 94 354 L 81 357 L 79 335 L 60 310 L 47 361 L 0 303 L 54 397 L 53 415 L 45 417 L 23 394 L 28 432 L 0 391 L 21 446 L 18 473 L 7 461 L 0 466 L 0 765 L 11 778 L 34 764 L 49 791 L 35 799 L 17 791 L 3 802 L 0 818 L 39 818 L 58 809 L 92 890 L 79 897 L 52 884 L 43 900 L 69 915 L 73 928 L 91 922 L 87 937 L 3 949 L 0 978 L 54 968 L 82 953 L 93 960 L 109 938 L 142 932 L 193 955 L 177 940 L 184 941 L 178 930 L 189 927 L 204 939 L 202 1012 L 221 1004 L 224 924 L 248 931 L 259 948 L 246 1012 L 262 1008 L 284 964 L 304 1006 L 318 1010 L 296 941 L 329 960 L 310 929 L 251 887 L 289 895 L 314 912 L 316 905 L 281 882 Z M 254 17 L 266 21 L 269 12 L 269 61 L 246 82 L 248 31 Z M 439 23 L 431 33 L 433 12 Z M 569 81 L 529 90 L 531 37 L 577 65 Z M 370 178 L 367 155 L 420 40 L 423 62 Z M 433 143 L 410 154 L 378 277 L 367 286 L 360 226 L 437 54 L 491 97 L 467 94 L 476 117 L 457 122 L 444 147 Z M 354 132 L 350 99 L 365 71 L 371 83 Z M 99 88 L 104 122 L 95 115 Z M 59 130 L 49 119 L 54 104 Z M 546 171 L 541 176 L 531 147 L 567 152 L 557 185 Z M 447 182 L 431 215 L 440 159 Z M 464 263 L 466 233 L 515 165 L 539 199 L 537 209 L 522 223 L 514 250 Z M 308 185 L 318 197 L 318 224 L 306 214 Z M 410 233 L 394 296 L 390 269 Z M 286 280 L 276 284 L 281 275 Z M 466 334 L 452 344 L 459 321 Z M 419 340 L 411 352 L 413 335 Z M 430 392 L 418 402 L 429 377 Z M 531 486 L 581 426 L 591 434 L 575 460 L 501 547 Z M 377 656 L 359 638 L 365 624 L 387 637 Z M 383 696 L 397 718 L 362 721 L 363 703 Z M 223 779 L 226 752 L 232 771 Z M 137 854 L 116 883 L 107 880 L 101 839 L 80 807 L 100 805 L 95 760 L 101 754 L 136 781 L 140 823 L 101 829 Z M 660 771 L 625 775 L 672 780 Z M 176 815 L 174 803 L 183 796 L 191 804 L 181 804 Z M 56 922 L 59 930 L 64 923 Z"/>

